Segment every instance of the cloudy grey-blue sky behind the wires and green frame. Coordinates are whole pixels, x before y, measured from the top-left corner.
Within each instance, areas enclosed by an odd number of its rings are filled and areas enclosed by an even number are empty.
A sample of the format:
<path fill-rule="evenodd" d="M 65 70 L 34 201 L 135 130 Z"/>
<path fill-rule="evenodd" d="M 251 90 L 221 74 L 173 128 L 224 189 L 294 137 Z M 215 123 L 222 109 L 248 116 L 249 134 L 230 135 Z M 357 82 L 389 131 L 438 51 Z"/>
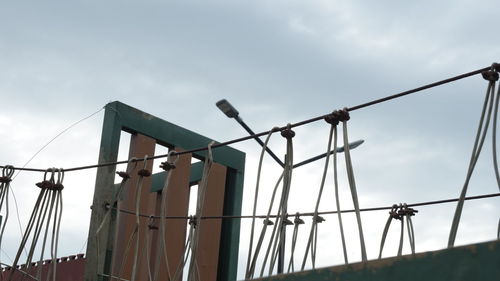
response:
<path fill-rule="evenodd" d="M 224 141 L 245 132 L 215 107 L 221 98 L 264 131 L 482 68 L 500 60 L 499 8 L 498 1 L 1 1 L 0 165 L 24 165 L 67 126 L 114 100 Z M 361 207 L 457 197 L 485 89 L 476 76 L 352 112 L 350 139 L 365 140 L 352 152 Z M 102 118 L 103 111 L 72 128 L 28 166 L 95 163 Z M 328 129 L 324 122 L 297 129 L 295 159 L 322 153 Z M 283 155 L 284 144 L 276 137 L 271 148 Z M 234 147 L 247 153 L 251 198 L 259 146 Z M 269 191 L 280 170 L 272 160 L 265 165 L 262 188 Z M 313 210 L 322 166 L 296 171 L 289 210 Z M 12 183 L 23 226 L 40 177 L 23 172 Z M 335 209 L 329 178 L 321 210 Z M 95 171 L 67 175 L 61 255 L 84 247 L 94 180 Z M 342 206 L 350 208 L 344 175 L 341 182 Z M 494 192 L 489 137 L 468 194 Z M 494 239 L 498 203 L 467 202 L 457 244 Z M 446 246 L 454 206 L 419 209 L 417 251 Z M 13 208 L 6 262 L 20 236 Z M 378 255 L 386 216 L 363 214 L 370 258 Z M 321 266 L 342 262 L 335 217 L 326 218 L 319 243 L 335 251 L 320 248 Z M 356 237 L 353 217 L 346 224 Z M 241 240 L 243 265 L 248 237 Z M 359 260 L 357 240 L 348 246 Z M 388 245 L 387 255 L 396 247 Z"/>

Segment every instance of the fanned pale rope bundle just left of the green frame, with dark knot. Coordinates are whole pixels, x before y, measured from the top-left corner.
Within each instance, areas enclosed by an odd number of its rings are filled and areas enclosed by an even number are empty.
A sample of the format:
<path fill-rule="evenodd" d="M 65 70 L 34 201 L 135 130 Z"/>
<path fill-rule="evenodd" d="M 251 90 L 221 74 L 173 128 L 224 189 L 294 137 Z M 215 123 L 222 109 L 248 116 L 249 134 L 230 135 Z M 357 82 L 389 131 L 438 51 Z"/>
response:
<path fill-rule="evenodd" d="M 42 246 L 40 250 L 40 259 L 38 262 L 38 270 L 37 270 L 37 279 L 42 279 L 42 263 L 44 260 L 45 247 L 47 244 L 47 239 L 50 237 L 50 254 L 52 258 L 51 267 L 49 272 L 47 273 L 47 280 L 52 276 L 52 280 L 56 280 L 56 258 L 57 258 L 57 248 L 59 243 L 59 229 L 61 226 L 61 216 L 63 211 L 63 201 L 62 201 L 62 190 L 64 189 L 63 185 L 64 180 L 64 170 L 51 168 L 48 169 L 43 176 L 43 181 L 36 184 L 40 188 L 40 193 L 38 194 L 37 201 L 35 206 L 33 207 L 33 212 L 31 213 L 31 217 L 29 219 L 28 225 L 26 226 L 26 230 L 21 239 L 21 244 L 16 254 L 16 258 L 14 259 L 12 268 L 14 269 L 9 275 L 9 281 L 11 281 L 14 277 L 14 273 L 16 272 L 16 268 L 21 258 L 21 253 L 26 246 L 30 238 L 30 234 L 33 231 L 32 242 L 29 247 L 29 252 L 26 258 L 26 268 L 25 271 L 28 271 L 28 268 L 33 261 L 33 256 L 35 254 L 35 248 L 38 244 L 38 240 L 42 231 L 44 232 L 42 238 Z M 52 226 L 52 227 L 50 227 Z M 45 228 L 45 230 L 43 230 Z M 52 229 L 49 234 L 49 228 Z"/>

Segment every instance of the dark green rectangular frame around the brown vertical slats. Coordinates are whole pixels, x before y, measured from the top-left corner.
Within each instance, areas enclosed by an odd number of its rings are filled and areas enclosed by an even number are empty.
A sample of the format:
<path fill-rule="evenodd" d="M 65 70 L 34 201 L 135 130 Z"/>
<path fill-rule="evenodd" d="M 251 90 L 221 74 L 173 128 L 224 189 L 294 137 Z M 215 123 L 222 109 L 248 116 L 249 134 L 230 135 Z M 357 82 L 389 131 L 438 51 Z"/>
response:
<path fill-rule="evenodd" d="M 157 140 L 158 144 L 167 147 L 181 147 L 185 150 L 207 146 L 212 140 L 190 130 L 184 129 L 155 116 L 132 108 L 121 102 L 108 103 L 105 107 L 104 122 L 99 152 L 99 163 L 115 162 L 118 157 L 118 148 L 121 131 L 131 134 L 142 134 Z M 204 160 L 206 152 L 195 152 L 193 157 Z M 243 196 L 243 177 L 245 171 L 245 153 L 228 146 L 214 149 L 213 160 L 227 167 L 226 190 L 224 195 L 223 215 L 241 215 Z M 190 182 L 199 180 L 203 163 L 194 163 L 191 167 Z M 87 260 L 84 280 L 102 280 L 97 272 L 108 272 L 112 253 L 111 237 L 114 229 L 109 225 L 101 229 L 100 234 L 108 237 L 107 245 L 100 246 L 100 257 L 97 261 L 97 248 L 94 234 L 102 221 L 108 202 L 112 202 L 114 193 L 115 166 L 100 167 L 97 170 L 96 186 L 94 191 L 93 209 L 89 229 Z M 161 173 L 153 176 L 152 191 L 158 191 L 163 185 Z M 240 237 L 240 220 L 231 219 L 222 221 L 221 244 L 219 250 L 218 280 L 236 280 L 238 264 L 238 248 Z"/>

